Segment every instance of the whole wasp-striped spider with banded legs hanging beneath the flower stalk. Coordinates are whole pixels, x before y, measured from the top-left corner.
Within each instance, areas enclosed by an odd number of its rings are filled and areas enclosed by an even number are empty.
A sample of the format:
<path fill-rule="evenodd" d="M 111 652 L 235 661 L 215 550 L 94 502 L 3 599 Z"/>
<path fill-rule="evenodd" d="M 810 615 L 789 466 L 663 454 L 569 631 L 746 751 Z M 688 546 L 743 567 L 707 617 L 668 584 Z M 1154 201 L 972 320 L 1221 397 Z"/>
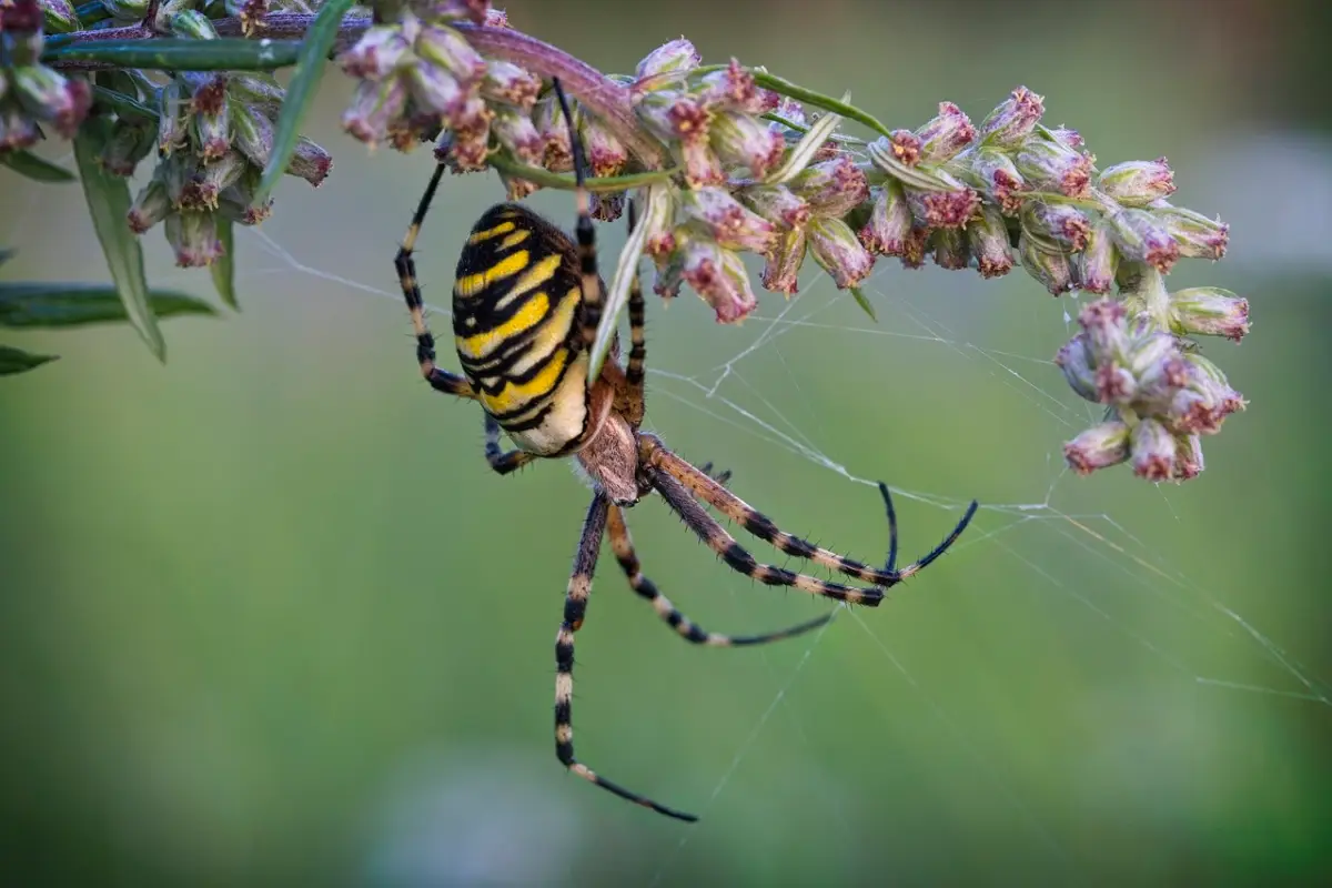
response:
<path fill-rule="evenodd" d="M 565 120 L 573 121 L 558 80 L 554 91 Z M 794 537 L 733 494 L 710 466 L 698 469 L 673 453 L 661 438 L 641 430 L 645 411 L 643 294 L 637 278 L 629 293 L 629 355 L 621 363 L 618 342 L 597 379 L 587 379 L 590 345 L 601 321 L 603 284 L 585 189 L 586 158 L 574 125 L 569 128 L 574 160 L 578 220 L 575 241 L 521 204 L 498 204 L 473 226 L 458 258 L 453 286 L 453 333 L 462 374 L 436 363 L 434 337 L 425 322 L 416 264 L 417 236 L 445 170 L 441 162 L 417 205 L 394 265 L 417 341 L 421 374 L 436 391 L 477 401 L 485 414 L 485 457 L 506 475 L 535 459 L 573 457 L 593 489 L 565 594 L 563 619 L 555 636 L 555 756 L 570 772 L 658 813 L 697 817 L 658 804 L 601 776 L 574 758 L 571 703 L 574 634 L 582 627 L 602 538 L 610 545 L 630 587 L 651 602 L 657 614 L 695 644 L 739 647 L 763 644 L 810 631 L 834 611 L 786 630 L 754 636 L 709 632 L 678 611 L 639 568 L 625 522 L 625 510 L 657 493 L 698 538 L 731 568 L 767 586 L 787 586 L 844 604 L 874 607 L 884 590 L 907 579 L 942 555 L 962 534 L 972 502 L 952 533 L 930 554 L 895 568 L 896 518 L 884 485 L 890 554 L 880 570 Z M 630 229 L 634 206 L 629 208 Z M 502 451 L 501 431 L 517 445 Z M 868 586 L 848 586 L 763 564 L 754 559 L 709 513 L 738 522 L 779 551 L 802 558 Z"/>

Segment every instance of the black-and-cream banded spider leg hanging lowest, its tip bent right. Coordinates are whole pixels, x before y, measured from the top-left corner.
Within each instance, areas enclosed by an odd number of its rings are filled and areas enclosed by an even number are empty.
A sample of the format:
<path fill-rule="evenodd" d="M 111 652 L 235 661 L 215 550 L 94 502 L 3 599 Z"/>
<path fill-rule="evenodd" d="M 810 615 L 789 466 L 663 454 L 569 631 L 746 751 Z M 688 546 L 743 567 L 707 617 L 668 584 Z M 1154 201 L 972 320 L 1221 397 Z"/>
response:
<path fill-rule="evenodd" d="M 565 618 L 559 623 L 559 634 L 555 635 L 555 756 L 571 774 L 577 774 L 602 789 L 614 792 L 621 799 L 651 808 L 667 817 L 698 820 L 691 813 L 657 804 L 646 796 L 611 783 L 574 758 L 574 632 L 582 628 L 583 618 L 587 614 L 587 596 L 591 594 L 591 578 L 597 571 L 597 556 L 601 553 L 601 539 L 606 533 L 609 511 L 610 501 L 606 495 L 602 493 L 593 495 L 591 506 L 587 507 L 587 518 L 583 521 L 582 535 L 578 539 L 578 553 L 574 555 L 574 570 L 569 576 L 569 588 L 565 592 Z"/>

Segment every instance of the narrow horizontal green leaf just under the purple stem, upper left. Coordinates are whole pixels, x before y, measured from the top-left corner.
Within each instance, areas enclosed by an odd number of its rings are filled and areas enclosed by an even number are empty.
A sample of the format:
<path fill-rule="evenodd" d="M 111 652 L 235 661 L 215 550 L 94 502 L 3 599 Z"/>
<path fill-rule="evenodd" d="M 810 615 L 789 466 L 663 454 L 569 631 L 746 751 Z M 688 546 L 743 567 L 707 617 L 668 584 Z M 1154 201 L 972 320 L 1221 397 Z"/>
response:
<path fill-rule="evenodd" d="M 294 65 L 300 49 L 300 40 L 245 37 L 88 40 L 48 49 L 41 53 L 41 60 L 48 65 L 77 61 L 148 71 L 274 71 Z"/>

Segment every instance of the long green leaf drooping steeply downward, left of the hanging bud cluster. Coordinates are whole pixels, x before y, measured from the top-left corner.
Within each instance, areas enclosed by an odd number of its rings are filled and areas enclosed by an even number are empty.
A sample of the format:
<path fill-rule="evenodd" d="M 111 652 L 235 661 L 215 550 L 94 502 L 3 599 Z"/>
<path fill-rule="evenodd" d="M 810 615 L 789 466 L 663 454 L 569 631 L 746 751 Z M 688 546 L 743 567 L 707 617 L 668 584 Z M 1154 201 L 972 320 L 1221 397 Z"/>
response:
<path fill-rule="evenodd" d="M 92 224 L 107 256 L 111 280 L 116 282 L 129 322 L 148 343 L 159 361 L 166 361 L 166 341 L 157 328 L 157 317 L 148 305 L 148 278 L 144 274 L 144 252 L 139 237 L 125 224 L 129 212 L 129 180 L 112 176 L 99 162 L 107 142 L 109 122 L 97 117 L 84 122 L 75 134 L 75 162 L 83 180 L 84 196 Z"/>

